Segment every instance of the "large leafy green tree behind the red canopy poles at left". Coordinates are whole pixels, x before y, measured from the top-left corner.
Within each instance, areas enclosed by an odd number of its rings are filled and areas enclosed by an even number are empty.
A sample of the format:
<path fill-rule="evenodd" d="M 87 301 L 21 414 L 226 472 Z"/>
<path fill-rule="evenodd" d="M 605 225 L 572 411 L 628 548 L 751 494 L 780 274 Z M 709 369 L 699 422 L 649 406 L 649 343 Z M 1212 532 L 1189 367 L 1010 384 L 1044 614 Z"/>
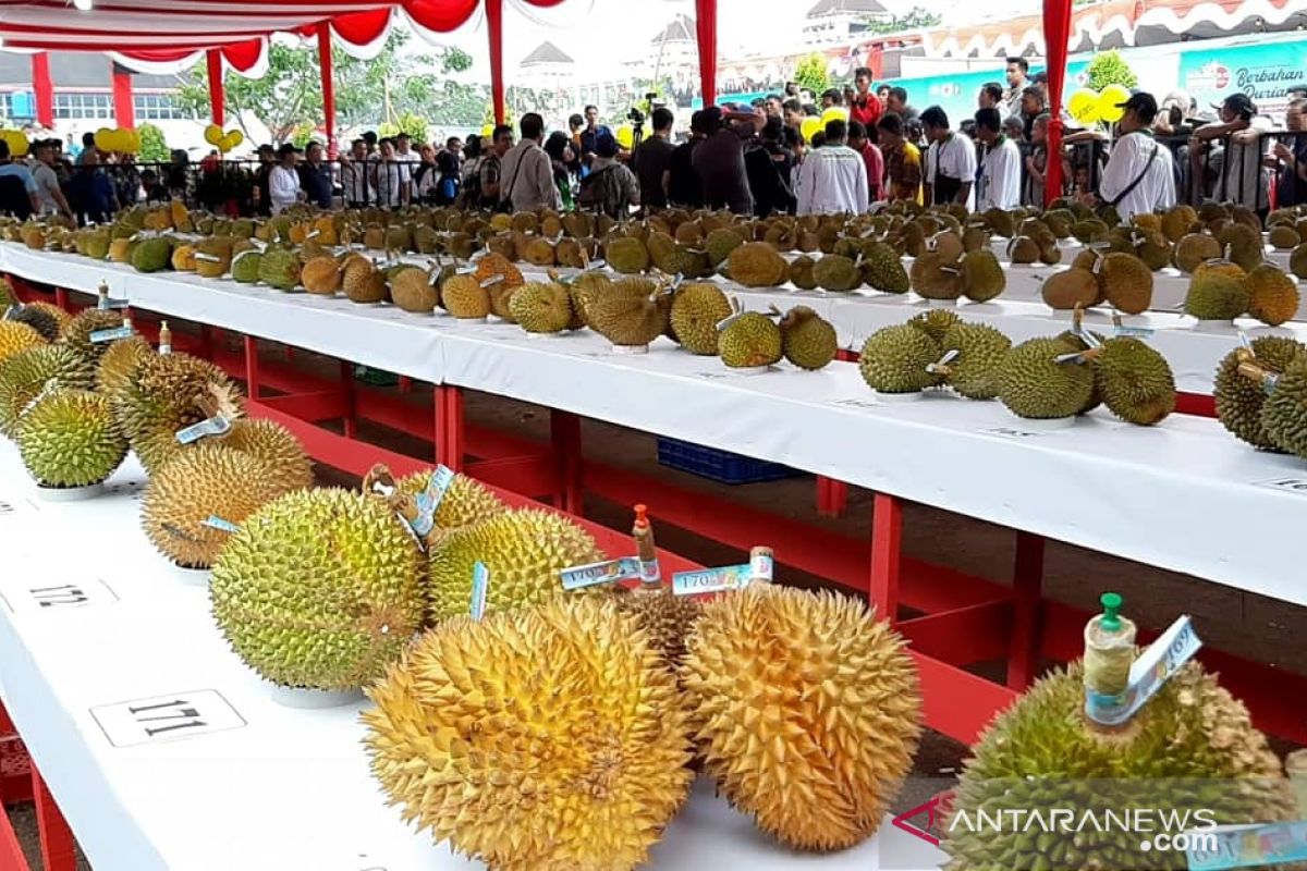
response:
<path fill-rule="evenodd" d="M 397 123 L 404 115 L 438 118 L 443 123 L 476 124 L 485 87 L 450 80 L 467 72 L 472 57 L 463 50 L 444 47 L 435 54 L 400 51 L 410 35 L 391 30 L 382 52 L 358 60 L 345 52 L 333 55 L 336 116 L 341 127 Z M 263 121 L 276 141 L 291 140 L 297 131 L 323 125 L 322 76 L 316 48 L 290 48 L 272 43 L 268 72 L 260 78 L 231 74 L 223 78 L 226 104 L 246 136 L 242 115 Z M 209 114 L 209 82 L 204 64 L 183 82 L 179 102 L 199 118 Z"/>

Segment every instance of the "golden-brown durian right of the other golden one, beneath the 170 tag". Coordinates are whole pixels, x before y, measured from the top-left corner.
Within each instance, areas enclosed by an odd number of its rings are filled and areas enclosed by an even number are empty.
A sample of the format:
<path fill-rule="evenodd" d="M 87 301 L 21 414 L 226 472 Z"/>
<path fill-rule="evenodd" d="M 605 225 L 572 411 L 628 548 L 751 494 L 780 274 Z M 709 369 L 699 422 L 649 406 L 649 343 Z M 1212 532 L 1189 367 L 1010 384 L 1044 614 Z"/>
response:
<path fill-rule="evenodd" d="M 754 584 L 710 602 L 681 667 L 706 769 L 792 846 L 870 837 L 921 730 L 902 639 L 830 592 Z"/>

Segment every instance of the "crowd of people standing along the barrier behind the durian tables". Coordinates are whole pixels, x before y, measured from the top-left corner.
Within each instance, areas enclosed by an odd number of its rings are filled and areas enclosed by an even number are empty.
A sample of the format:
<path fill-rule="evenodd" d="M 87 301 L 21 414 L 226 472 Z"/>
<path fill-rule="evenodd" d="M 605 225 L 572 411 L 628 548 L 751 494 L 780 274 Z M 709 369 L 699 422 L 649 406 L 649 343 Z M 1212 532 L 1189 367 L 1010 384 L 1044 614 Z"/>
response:
<path fill-rule="evenodd" d="M 1261 214 L 1272 202 L 1307 204 L 1307 87 L 1291 89 L 1285 118 L 1286 131 L 1302 136 L 1266 136 L 1270 120 L 1242 93 L 1204 115 L 1183 93 L 1159 106 L 1136 90 L 1117 106 L 1111 131 L 1081 129 L 1063 112 L 1064 145 L 1050 155 L 1047 86 L 1023 57 L 1009 57 L 1005 81 L 984 84 L 975 112 L 954 123 L 940 106 L 919 111 L 903 87 L 873 86 L 872 71 L 860 68 L 851 85 L 819 95 L 787 85 L 749 104 L 699 110 L 682 132 L 669 108 L 652 107 L 634 119 L 634 141 L 618 141 L 587 106 L 566 131 L 548 131 L 532 112 L 516 129 L 502 124 L 465 141 L 414 144 L 406 133 L 367 132 L 336 161 L 318 141 L 263 145 L 248 208 L 271 215 L 299 202 L 425 204 L 617 218 L 680 206 L 763 217 L 860 214 L 912 201 L 984 212 L 1042 206 L 1051 159 L 1073 196 L 1112 205 L 1123 218 L 1205 198 Z M 214 151 L 200 175 L 222 166 Z M 186 170 L 183 154 L 139 171 L 131 155 L 98 150 L 89 133 L 73 154 L 60 140 L 37 141 L 26 162 L 0 142 L 0 210 L 103 221 L 120 205 L 184 195 Z"/>

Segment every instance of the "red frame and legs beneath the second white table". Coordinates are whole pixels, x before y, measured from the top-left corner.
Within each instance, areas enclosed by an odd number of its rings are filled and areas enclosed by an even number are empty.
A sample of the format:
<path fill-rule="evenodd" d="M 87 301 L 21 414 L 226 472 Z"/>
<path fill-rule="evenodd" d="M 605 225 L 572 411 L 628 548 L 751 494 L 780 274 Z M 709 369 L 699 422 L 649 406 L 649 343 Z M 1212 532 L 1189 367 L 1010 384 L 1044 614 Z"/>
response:
<path fill-rule="evenodd" d="M 10 277 L 10 283 L 25 299 L 38 295 L 22 279 Z M 64 308 L 74 308 L 63 289 L 55 290 L 55 300 Z M 153 338 L 157 326 L 150 316 L 137 317 L 136 323 Z M 174 346 L 212 359 L 243 379 L 250 413 L 290 427 L 308 453 L 327 465 L 354 474 L 362 474 L 379 458 L 399 473 L 427 465 L 358 440 L 357 420 L 366 419 L 430 441 L 435 462 L 515 494 L 516 499 L 546 499 L 576 516 L 583 513 L 587 492 L 617 503 L 642 501 L 660 522 L 742 551 L 767 543 L 779 564 L 865 594 L 912 644 L 927 725 L 965 743 L 972 743 L 993 714 L 1030 684 L 1043 661 L 1080 656 L 1080 631 L 1090 615 L 1043 598 L 1044 539 L 1039 535 L 1014 530 L 1012 584 L 1002 585 L 904 556 L 903 501 L 887 494 L 873 495 L 869 539 L 853 539 L 588 461 L 582 451 L 580 419 L 574 414 L 550 410 L 550 440 L 537 443 L 469 424 L 463 389 L 456 385 L 435 385 L 430 406 L 423 406 L 414 401 L 408 379 L 400 396 L 395 396 L 357 384 L 350 362 L 341 360 L 337 376 L 325 379 L 288 366 L 290 349 L 285 360 L 273 363 L 260 359 L 259 342 L 265 340 L 244 336 L 237 354 L 222 349 L 214 341 L 216 333 L 203 324 L 193 337 L 174 329 Z M 847 353 L 842 358 L 856 359 Z M 1212 415 L 1212 397 L 1184 394 L 1180 410 Z M 319 426 L 329 420 L 340 420 L 344 435 Z M 819 511 L 838 513 L 846 496 L 847 484 L 818 478 Z M 766 530 L 766 542 L 758 541 L 758 530 Z M 681 563 L 690 565 L 686 560 Z M 1145 641 L 1155 635 L 1157 631 L 1141 631 Z M 1307 695 L 1307 675 L 1210 649 L 1200 658 L 1219 671 L 1222 683 L 1244 700 L 1260 729 L 1307 743 L 1307 722 L 1291 717 L 1283 705 L 1285 699 Z M 1001 683 L 968 671 L 989 662 L 1005 663 Z M 58 866 L 47 868 L 65 871 Z"/>

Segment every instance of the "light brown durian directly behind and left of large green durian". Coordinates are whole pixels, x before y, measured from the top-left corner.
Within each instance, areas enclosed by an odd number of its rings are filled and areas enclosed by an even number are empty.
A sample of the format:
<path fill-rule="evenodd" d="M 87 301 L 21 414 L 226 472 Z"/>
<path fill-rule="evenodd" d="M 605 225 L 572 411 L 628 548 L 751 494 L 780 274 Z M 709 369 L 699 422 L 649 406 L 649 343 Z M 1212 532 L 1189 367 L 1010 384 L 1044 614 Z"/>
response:
<path fill-rule="evenodd" d="M 150 543 L 183 568 L 209 568 L 231 533 L 205 524 L 240 525 L 286 492 L 268 466 L 248 453 L 200 445 L 159 469 L 145 487 L 141 525 Z"/>

